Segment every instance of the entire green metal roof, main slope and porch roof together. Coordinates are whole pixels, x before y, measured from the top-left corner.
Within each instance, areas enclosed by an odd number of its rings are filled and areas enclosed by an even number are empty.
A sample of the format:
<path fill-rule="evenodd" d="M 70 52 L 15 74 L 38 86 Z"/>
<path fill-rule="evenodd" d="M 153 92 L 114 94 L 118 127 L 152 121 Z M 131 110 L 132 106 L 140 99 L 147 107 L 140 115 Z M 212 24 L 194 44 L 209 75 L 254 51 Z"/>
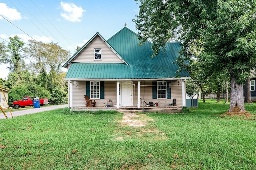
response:
<path fill-rule="evenodd" d="M 124 27 L 109 40 L 108 44 L 128 63 L 72 63 L 66 78 L 82 79 L 164 79 L 176 77 L 180 42 L 166 43 L 166 52 L 160 50 L 151 58 L 152 43 L 138 46 L 138 35 Z M 180 77 L 189 77 L 187 71 Z"/>

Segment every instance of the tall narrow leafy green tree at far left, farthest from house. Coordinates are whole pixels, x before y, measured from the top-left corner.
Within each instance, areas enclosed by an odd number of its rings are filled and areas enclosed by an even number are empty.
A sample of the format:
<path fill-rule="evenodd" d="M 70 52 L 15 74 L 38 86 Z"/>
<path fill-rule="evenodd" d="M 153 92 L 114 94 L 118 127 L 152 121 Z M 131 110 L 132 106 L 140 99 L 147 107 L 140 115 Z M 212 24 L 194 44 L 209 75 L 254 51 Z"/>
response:
<path fill-rule="evenodd" d="M 3 63 L 8 63 L 9 66 L 7 68 L 9 69 L 10 73 L 13 73 L 14 71 L 20 71 L 22 65 L 24 64 L 23 55 L 21 54 L 23 51 L 24 42 L 22 42 L 18 36 L 14 36 L 13 38 L 9 37 L 9 39 L 10 42 L 5 50 L 8 52 L 8 54 L 2 55 L 1 61 Z"/>

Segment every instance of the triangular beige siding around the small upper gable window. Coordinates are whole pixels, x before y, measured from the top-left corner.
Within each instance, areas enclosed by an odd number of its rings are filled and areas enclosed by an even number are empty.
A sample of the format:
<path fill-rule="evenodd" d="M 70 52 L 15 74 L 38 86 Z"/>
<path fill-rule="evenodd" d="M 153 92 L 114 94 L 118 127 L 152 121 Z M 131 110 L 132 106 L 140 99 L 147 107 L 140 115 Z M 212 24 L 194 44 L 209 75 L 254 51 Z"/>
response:
<path fill-rule="evenodd" d="M 94 48 L 102 49 L 102 60 L 94 60 Z M 123 63 L 122 60 L 98 37 L 74 61 L 78 63 Z"/>

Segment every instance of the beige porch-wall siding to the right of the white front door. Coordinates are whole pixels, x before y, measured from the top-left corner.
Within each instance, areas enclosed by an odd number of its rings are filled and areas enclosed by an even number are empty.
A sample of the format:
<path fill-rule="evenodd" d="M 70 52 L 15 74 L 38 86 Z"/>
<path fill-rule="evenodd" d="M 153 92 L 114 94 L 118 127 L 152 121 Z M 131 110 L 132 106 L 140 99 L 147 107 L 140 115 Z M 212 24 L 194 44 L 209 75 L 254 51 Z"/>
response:
<path fill-rule="evenodd" d="M 137 81 L 134 81 L 135 87 L 133 87 L 133 106 L 137 106 L 137 92 L 138 86 Z M 182 105 L 182 86 L 181 81 L 178 85 L 178 81 L 172 81 L 171 83 L 171 99 L 152 99 L 152 82 L 142 81 L 140 82 L 140 98 L 144 99 L 146 103 L 149 104 L 150 101 L 156 103 L 159 102 L 159 106 L 168 105 L 173 102 L 173 99 L 176 99 L 177 105 Z M 146 103 L 143 103 L 145 106 Z M 140 102 L 140 106 L 142 107 L 142 100 Z"/>

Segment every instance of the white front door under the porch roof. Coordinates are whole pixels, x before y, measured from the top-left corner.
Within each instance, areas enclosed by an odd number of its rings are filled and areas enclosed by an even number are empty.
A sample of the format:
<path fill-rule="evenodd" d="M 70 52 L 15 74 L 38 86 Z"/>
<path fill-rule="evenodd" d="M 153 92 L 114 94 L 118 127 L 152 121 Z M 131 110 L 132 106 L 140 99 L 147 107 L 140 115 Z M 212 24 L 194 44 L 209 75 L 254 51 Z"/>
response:
<path fill-rule="evenodd" d="M 120 82 L 120 106 L 132 106 L 132 81 Z"/>

